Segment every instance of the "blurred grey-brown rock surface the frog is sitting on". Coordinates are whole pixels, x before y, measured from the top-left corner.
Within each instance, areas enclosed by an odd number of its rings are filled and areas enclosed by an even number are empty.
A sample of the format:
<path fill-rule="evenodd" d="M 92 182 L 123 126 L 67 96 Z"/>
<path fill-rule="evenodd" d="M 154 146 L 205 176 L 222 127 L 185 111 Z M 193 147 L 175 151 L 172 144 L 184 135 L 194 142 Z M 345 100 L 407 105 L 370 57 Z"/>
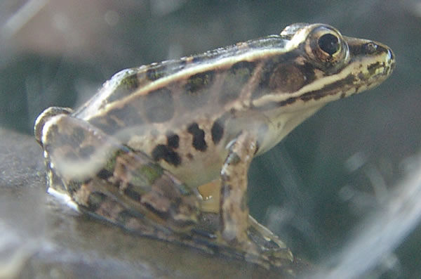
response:
<path fill-rule="evenodd" d="M 290 277 L 286 271 L 131 235 L 79 214 L 46 194 L 41 148 L 34 138 L 5 129 L 0 135 L 0 278 Z"/>

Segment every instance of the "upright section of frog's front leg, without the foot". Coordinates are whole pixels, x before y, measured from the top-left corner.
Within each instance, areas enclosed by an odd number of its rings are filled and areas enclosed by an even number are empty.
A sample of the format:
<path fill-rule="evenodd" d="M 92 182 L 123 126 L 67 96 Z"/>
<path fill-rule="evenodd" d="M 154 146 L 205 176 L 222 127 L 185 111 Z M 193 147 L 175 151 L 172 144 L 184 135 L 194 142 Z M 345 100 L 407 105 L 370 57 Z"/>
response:
<path fill-rule="evenodd" d="M 229 145 L 229 152 L 221 169 L 220 231 L 222 238 L 232 245 L 249 244 L 247 173 L 258 146 L 256 136 L 241 131 Z"/>

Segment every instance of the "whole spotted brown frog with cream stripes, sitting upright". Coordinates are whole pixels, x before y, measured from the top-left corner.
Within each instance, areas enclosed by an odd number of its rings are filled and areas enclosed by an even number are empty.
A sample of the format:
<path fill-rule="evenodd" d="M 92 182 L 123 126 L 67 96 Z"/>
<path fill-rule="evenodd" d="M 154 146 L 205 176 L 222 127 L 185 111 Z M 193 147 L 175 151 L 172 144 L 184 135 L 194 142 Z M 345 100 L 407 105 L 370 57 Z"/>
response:
<path fill-rule="evenodd" d="M 393 68 L 383 44 L 298 23 L 122 70 L 81 108 L 48 108 L 36 119 L 48 192 L 140 235 L 285 266 L 290 250 L 248 214 L 251 160 Z"/>

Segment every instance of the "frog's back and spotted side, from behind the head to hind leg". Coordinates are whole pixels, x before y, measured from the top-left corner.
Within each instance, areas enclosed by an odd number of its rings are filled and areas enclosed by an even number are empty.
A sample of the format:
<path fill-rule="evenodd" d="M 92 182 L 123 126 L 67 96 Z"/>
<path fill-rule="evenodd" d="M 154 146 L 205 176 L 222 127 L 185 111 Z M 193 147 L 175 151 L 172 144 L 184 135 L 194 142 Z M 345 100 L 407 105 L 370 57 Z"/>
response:
<path fill-rule="evenodd" d="M 250 89 L 257 90 L 265 65 L 285 52 L 285 43 L 274 35 L 123 70 L 74 116 L 146 153 L 187 184 L 204 183 L 218 175 L 225 145 L 240 129 L 230 121 L 249 114 Z"/>

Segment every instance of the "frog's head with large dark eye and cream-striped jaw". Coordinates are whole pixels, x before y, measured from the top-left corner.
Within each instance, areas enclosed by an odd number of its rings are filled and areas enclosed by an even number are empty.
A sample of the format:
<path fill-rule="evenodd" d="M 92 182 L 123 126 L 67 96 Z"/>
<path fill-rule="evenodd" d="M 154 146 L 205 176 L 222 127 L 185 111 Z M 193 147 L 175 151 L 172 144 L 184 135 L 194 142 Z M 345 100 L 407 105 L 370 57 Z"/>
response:
<path fill-rule="evenodd" d="M 281 32 L 285 52 L 269 77 L 258 108 L 321 106 L 382 83 L 395 65 L 392 50 L 376 41 L 345 37 L 330 25 L 297 23 Z"/>

